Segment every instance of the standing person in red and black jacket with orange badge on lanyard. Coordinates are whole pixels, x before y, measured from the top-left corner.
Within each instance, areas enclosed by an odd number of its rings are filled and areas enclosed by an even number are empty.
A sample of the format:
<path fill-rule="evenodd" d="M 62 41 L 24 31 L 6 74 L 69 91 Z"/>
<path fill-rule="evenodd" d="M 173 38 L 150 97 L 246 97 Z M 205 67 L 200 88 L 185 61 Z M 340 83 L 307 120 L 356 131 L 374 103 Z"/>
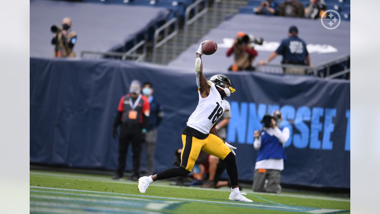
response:
<path fill-rule="evenodd" d="M 132 143 L 133 172 L 131 180 L 138 180 L 140 166 L 141 139 L 147 131 L 150 112 L 149 101 L 142 96 L 141 84 L 133 80 L 129 88 L 129 94 L 121 97 L 117 115 L 112 128 L 112 136 L 116 139 L 117 126 L 121 124 L 119 136 L 119 158 L 116 174 L 112 179 L 121 179 L 125 168 L 127 150 Z"/>

